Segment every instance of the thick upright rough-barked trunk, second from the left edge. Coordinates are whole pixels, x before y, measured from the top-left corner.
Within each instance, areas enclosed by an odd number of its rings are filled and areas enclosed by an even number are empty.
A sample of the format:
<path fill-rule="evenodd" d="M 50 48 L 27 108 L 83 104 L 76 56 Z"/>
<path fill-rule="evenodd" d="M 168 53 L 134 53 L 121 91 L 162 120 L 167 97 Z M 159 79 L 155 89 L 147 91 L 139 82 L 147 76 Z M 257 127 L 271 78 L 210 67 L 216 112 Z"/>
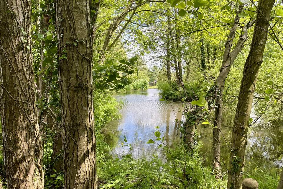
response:
<path fill-rule="evenodd" d="M 91 1 L 56 7 L 65 189 L 96 189 Z"/>

